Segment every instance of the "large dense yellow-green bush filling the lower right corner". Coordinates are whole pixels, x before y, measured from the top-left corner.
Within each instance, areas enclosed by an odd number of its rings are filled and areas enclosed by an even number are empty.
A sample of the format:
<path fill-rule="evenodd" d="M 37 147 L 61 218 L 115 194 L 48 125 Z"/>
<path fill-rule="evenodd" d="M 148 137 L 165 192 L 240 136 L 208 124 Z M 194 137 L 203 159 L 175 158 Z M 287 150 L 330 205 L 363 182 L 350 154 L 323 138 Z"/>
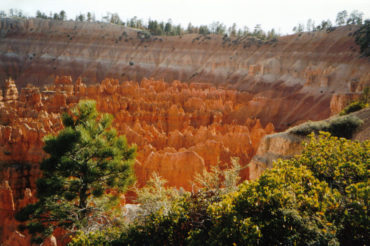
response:
<path fill-rule="evenodd" d="M 302 155 L 209 207 L 205 244 L 367 244 L 370 141 L 310 138 Z"/>

